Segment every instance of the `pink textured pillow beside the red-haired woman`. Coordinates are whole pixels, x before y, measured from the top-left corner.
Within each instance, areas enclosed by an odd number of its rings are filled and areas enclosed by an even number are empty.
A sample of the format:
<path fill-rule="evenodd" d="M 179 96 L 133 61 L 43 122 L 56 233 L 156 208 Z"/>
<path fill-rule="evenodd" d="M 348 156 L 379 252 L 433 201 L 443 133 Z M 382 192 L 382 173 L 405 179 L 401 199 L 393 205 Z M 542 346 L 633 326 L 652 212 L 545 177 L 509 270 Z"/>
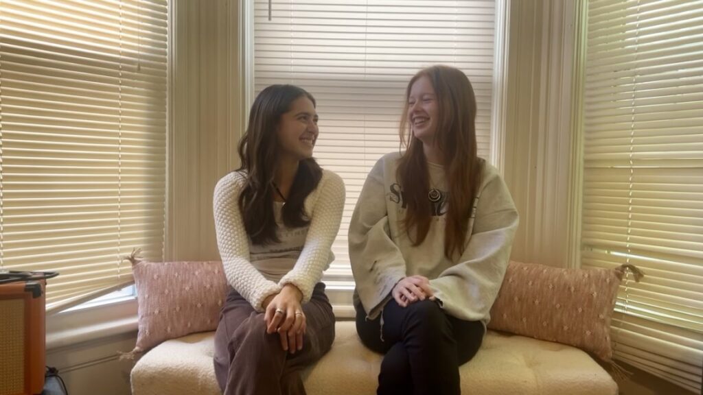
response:
<path fill-rule="evenodd" d="M 569 344 L 610 362 L 610 318 L 623 273 L 510 262 L 488 327 Z"/>

